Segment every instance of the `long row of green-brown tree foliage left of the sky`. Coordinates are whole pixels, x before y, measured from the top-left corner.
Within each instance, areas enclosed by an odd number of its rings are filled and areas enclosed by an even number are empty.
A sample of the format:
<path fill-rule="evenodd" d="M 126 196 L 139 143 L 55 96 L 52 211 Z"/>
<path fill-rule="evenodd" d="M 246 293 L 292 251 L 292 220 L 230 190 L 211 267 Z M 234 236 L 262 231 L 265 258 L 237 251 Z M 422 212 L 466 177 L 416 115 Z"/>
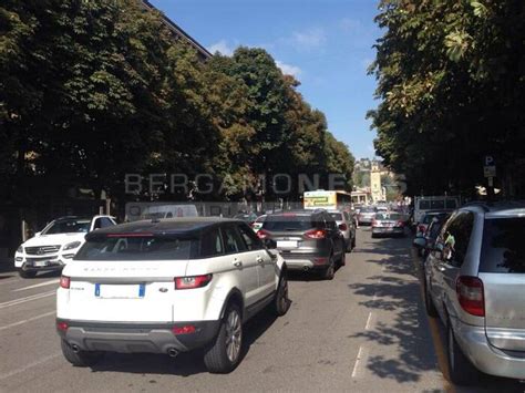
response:
<path fill-rule="evenodd" d="M 0 177 L 113 197 L 125 173 L 212 174 L 226 199 L 265 173 L 336 172 L 350 187 L 353 157 L 297 85 L 261 49 L 203 63 L 135 0 L 4 0 Z"/>

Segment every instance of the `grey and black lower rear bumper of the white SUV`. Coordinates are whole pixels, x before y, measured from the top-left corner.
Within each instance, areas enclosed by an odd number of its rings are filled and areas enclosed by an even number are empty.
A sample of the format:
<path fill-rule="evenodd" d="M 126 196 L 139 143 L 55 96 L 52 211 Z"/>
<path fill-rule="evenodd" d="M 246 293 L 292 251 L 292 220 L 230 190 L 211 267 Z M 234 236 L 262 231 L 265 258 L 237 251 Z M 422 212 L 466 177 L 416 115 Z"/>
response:
<path fill-rule="evenodd" d="M 175 323 L 105 323 L 70 321 L 59 335 L 81 351 L 106 351 L 120 353 L 167 353 L 169 350 L 187 352 L 203 348 L 218 333 L 220 321 Z M 195 327 L 194 333 L 175 334 L 174 328 Z"/>

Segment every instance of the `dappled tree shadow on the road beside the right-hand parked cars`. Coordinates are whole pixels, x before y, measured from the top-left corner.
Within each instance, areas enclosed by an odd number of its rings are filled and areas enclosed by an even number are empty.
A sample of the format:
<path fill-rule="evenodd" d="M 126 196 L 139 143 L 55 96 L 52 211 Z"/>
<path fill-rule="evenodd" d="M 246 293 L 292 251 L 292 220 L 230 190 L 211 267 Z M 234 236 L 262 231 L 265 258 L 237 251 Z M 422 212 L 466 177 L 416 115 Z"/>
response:
<path fill-rule="evenodd" d="M 409 241 L 382 238 L 364 242 L 364 248 L 358 251 L 384 256 L 367 261 L 381 265 L 384 276 L 369 277 L 367 281 L 349 285 L 349 288 L 354 294 L 368 298 L 361 302 L 362 306 L 392 319 L 352 337 L 389 347 L 384 351 L 389 355 L 368 359 L 368 369 L 372 373 L 400 383 L 418 382 L 424 373 L 436 371 L 437 365 L 421 304 L 416 270 L 409 256 Z"/>

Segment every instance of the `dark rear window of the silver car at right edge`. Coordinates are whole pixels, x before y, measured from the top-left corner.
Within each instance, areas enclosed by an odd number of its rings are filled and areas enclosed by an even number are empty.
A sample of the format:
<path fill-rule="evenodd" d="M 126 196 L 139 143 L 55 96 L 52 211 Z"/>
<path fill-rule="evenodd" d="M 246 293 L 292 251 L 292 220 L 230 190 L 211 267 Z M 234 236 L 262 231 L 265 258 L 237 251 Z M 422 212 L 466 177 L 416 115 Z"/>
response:
<path fill-rule="evenodd" d="M 485 219 L 480 272 L 525 273 L 525 217 Z"/>

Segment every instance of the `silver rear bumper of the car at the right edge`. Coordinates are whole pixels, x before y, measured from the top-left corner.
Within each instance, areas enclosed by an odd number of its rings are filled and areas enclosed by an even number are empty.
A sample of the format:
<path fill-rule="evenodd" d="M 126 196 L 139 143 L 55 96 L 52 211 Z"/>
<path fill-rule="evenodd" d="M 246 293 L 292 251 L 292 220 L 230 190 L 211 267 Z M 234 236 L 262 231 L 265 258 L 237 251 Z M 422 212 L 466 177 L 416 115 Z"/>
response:
<path fill-rule="evenodd" d="M 463 353 L 482 372 L 495 376 L 525 379 L 525 352 L 502 351 L 491 345 L 484 327 L 473 327 L 453 319 L 454 335 Z"/>

